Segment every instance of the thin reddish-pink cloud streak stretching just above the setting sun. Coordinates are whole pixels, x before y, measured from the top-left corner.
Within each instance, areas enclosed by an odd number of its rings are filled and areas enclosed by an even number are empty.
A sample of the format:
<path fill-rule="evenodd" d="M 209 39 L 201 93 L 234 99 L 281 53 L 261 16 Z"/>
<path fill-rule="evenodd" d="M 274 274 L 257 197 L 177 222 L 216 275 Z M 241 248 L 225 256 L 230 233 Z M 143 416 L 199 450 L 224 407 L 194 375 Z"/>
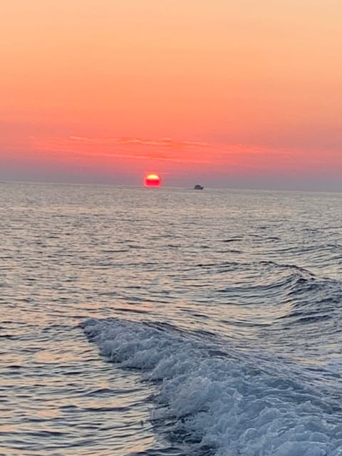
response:
<path fill-rule="evenodd" d="M 196 140 L 172 140 L 161 138 L 90 138 L 78 135 L 34 136 L 28 138 L 29 150 L 36 152 L 58 153 L 66 159 L 81 160 L 135 160 L 139 162 L 169 162 L 177 164 L 204 165 L 217 172 L 227 172 L 232 168 L 239 170 L 256 170 L 269 173 L 289 172 L 299 168 L 308 172 L 320 168 L 331 169 L 333 160 L 335 167 L 342 168 L 342 157 L 331 152 L 307 152 L 300 149 L 270 148 L 260 145 L 219 144 Z M 328 160 L 329 157 L 329 160 Z"/>

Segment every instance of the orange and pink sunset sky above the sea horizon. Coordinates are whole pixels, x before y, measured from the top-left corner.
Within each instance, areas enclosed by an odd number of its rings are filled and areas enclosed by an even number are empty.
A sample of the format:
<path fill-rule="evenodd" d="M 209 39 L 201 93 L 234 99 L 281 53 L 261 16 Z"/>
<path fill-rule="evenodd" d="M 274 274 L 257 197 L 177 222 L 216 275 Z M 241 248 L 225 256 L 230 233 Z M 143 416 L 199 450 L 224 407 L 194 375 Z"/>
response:
<path fill-rule="evenodd" d="M 0 180 L 342 191 L 341 0 L 0 0 Z"/>

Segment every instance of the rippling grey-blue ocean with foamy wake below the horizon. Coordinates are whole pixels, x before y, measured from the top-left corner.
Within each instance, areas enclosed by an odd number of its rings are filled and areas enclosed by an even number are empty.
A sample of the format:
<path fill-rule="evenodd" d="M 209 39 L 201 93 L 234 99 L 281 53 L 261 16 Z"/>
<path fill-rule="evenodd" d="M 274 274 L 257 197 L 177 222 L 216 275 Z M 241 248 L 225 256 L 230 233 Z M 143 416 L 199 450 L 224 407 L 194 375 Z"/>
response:
<path fill-rule="evenodd" d="M 342 194 L 0 198 L 1 456 L 342 456 Z"/>

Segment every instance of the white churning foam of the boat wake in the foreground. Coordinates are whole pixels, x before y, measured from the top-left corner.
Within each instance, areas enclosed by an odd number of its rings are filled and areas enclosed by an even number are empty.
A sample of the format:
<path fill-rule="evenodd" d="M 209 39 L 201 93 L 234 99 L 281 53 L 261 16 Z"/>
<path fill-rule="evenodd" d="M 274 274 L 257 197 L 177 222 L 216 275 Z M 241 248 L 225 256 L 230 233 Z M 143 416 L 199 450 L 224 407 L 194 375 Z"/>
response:
<path fill-rule="evenodd" d="M 160 380 L 156 410 L 217 456 L 342 456 L 341 410 L 285 370 L 215 355 L 205 341 L 144 323 L 89 319 L 83 327 L 104 356 Z"/>

